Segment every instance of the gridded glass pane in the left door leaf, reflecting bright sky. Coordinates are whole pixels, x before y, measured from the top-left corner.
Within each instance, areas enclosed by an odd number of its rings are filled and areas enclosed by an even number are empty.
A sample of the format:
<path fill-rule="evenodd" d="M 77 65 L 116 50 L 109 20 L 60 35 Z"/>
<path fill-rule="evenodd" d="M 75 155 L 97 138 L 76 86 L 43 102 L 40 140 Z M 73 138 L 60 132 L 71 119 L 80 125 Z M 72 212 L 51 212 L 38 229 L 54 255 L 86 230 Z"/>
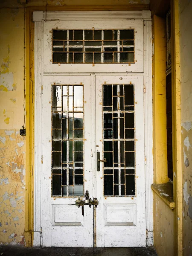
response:
<path fill-rule="evenodd" d="M 52 196 L 84 192 L 84 87 L 52 85 Z"/>

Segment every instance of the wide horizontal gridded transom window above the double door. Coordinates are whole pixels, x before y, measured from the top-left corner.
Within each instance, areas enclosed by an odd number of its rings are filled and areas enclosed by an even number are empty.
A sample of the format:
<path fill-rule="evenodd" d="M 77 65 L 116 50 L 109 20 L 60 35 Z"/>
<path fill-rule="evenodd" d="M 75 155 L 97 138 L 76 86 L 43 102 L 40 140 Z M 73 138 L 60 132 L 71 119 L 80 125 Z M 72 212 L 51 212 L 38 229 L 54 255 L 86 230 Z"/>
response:
<path fill-rule="evenodd" d="M 134 29 L 52 29 L 52 63 L 134 62 Z"/>

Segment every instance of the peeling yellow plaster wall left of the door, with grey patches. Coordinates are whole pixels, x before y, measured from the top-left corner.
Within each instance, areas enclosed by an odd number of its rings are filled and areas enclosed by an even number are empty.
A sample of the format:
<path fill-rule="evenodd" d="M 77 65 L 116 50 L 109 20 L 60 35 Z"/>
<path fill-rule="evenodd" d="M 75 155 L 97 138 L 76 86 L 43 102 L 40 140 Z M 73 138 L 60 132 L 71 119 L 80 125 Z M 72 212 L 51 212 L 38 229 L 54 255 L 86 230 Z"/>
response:
<path fill-rule="evenodd" d="M 24 245 L 23 9 L 0 9 L 0 27 L 0 244 Z"/>

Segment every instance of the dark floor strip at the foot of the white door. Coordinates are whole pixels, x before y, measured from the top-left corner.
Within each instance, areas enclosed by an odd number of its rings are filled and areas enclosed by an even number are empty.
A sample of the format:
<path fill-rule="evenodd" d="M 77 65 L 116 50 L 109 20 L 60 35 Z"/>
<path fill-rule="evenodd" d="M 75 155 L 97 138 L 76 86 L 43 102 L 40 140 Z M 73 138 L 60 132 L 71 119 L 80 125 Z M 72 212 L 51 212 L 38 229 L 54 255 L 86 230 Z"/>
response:
<path fill-rule="evenodd" d="M 0 246 L 0 256 L 157 256 L 154 247 L 69 248 Z"/>

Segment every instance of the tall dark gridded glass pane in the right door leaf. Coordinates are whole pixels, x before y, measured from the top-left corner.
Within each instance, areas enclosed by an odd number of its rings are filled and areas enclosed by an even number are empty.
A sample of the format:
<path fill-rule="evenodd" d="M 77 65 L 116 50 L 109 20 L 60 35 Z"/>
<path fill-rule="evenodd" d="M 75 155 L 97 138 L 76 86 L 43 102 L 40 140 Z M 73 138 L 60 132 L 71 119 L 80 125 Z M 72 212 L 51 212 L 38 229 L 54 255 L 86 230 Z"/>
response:
<path fill-rule="evenodd" d="M 103 84 L 104 196 L 135 195 L 134 84 Z"/>

